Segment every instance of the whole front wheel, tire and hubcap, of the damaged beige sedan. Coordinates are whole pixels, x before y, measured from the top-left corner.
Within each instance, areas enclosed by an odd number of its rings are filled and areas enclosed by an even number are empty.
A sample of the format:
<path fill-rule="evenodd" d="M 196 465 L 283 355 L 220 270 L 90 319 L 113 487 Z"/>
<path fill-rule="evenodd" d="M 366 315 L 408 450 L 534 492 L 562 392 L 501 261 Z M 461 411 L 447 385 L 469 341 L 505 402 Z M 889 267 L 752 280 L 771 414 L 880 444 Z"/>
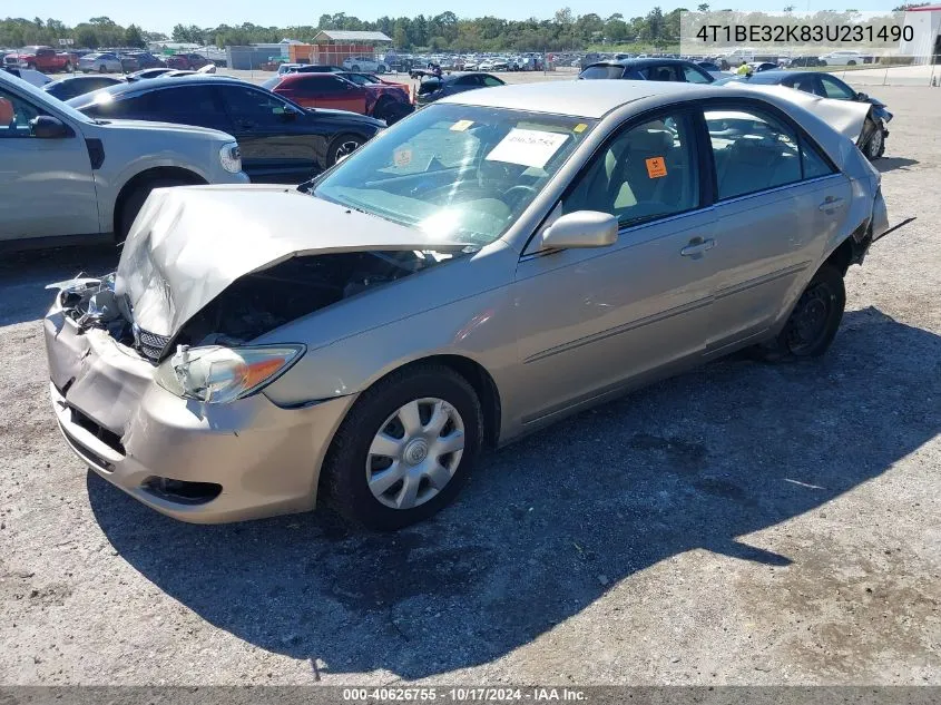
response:
<path fill-rule="evenodd" d="M 400 417 L 406 409 L 418 414 L 412 434 Z M 440 431 L 432 425 L 442 418 L 435 414 L 444 414 Z M 376 444 L 380 434 L 385 443 Z M 394 372 L 366 390 L 340 424 L 321 476 L 325 499 L 349 522 L 369 529 L 389 531 L 422 521 L 458 495 L 482 437 L 480 401 L 464 378 L 439 364 Z M 460 450 L 435 457 L 437 443 L 443 450 L 461 441 Z M 382 451 L 395 453 L 394 459 Z M 440 487 L 423 474 L 430 468 Z M 392 474 L 383 480 L 389 470 Z M 405 506 L 395 508 L 399 502 Z"/>

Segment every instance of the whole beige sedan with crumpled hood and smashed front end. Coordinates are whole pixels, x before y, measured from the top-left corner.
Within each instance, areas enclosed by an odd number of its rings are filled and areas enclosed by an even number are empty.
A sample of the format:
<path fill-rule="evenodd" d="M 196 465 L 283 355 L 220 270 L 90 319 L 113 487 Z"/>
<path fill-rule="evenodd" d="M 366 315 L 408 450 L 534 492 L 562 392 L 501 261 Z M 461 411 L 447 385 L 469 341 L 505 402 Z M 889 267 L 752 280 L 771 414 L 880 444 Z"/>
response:
<path fill-rule="evenodd" d="M 820 355 L 890 228 L 794 92 L 470 91 L 301 188 L 155 190 L 116 273 L 53 285 L 62 434 L 178 519 L 322 498 L 392 529 L 484 445 L 739 349 Z"/>

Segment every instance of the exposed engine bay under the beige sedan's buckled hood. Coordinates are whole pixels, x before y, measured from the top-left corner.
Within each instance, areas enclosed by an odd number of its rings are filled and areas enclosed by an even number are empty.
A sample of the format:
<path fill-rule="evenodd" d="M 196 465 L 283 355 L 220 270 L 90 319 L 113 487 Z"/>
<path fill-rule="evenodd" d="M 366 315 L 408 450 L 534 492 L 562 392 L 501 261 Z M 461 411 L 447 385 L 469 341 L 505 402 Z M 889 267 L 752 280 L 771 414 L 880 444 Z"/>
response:
<path fill-rule="evenodd" d="M 49 284 L 80 329 L 99 327 L 154 363 L 177 345 L 239 345 L 304 315 L 447 262 L 437 252 L 344 252 L 298 256 L 246 274 L 194 315 L 173 339 L 135 325 L 115 274 Z"/>

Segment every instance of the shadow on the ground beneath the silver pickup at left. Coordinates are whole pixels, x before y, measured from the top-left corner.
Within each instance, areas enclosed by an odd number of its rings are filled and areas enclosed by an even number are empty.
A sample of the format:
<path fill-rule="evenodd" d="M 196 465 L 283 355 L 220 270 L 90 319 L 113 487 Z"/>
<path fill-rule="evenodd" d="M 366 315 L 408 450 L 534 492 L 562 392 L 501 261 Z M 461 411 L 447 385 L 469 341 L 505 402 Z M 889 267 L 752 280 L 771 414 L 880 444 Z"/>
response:
<path fill-rule="evenodd" d="M 115 245 L 0 251 L 0 325 L 41 319 L 53 296 L 47 284 L 80 274 L 100 276 L 114 272 L 119 256 Z"/>

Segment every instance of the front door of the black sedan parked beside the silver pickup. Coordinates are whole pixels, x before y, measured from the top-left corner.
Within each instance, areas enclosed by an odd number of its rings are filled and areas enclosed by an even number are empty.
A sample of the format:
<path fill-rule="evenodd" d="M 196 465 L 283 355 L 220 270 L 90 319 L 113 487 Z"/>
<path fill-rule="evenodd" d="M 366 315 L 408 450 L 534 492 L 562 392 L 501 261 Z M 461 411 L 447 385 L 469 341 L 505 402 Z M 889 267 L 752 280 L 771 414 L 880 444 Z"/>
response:
<path fill-rule="evenodd" d="M 314 117 L 278 96 L 231 84 L 214 87 L 229 120 L 225 131 L 235 135 L 242 167 L 253 182 L 300 184 L 322 170 L 325 137 L 313 126 Z"/>

